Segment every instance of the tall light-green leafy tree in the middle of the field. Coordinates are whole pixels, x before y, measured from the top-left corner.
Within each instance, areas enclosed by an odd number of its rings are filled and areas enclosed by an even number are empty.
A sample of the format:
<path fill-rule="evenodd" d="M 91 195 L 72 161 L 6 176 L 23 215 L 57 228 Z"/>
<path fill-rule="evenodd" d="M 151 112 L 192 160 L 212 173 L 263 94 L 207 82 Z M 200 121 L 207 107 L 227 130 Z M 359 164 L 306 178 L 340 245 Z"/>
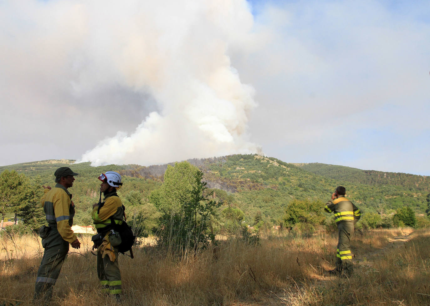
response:
<path fill-rule="evenodd" d="M 168 166 L 160 191 L 151 193 L 150 200 L 160 212 L 158 242 L 169 249 L 185 253 L 207 245 L 215 236 L 211 220 L 221 202 L 204 196 L 206 182 L 203 172 L 188 162 Z"/>

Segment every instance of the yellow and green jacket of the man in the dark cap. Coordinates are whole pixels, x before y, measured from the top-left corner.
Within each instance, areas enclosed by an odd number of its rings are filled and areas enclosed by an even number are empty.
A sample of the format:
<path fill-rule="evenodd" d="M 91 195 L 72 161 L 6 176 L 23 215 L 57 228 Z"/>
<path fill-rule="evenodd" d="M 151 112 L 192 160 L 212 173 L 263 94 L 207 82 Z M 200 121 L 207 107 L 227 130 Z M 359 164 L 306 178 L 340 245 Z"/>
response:
<path fill-rule="evenodd" d="M 45 189 L 45 194 L 40 200 L 48 225 L 57 227 L 61 237 L 70 243 L 77 239 L 71 229 L 75 215 L 75 206 L 72 204 L 71 198 L 72 195 L 67 188 L 56 184 L 51 190 Z"/>

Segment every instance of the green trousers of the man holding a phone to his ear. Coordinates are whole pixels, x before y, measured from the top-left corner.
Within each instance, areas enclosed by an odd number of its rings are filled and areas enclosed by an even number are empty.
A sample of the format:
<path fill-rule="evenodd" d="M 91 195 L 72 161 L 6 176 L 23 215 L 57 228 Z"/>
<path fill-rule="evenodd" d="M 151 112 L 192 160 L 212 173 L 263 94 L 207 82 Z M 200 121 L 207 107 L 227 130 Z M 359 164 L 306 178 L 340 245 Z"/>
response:
<path fill-rule="evenodd" d="M 354 223 L 352 221 L 341 221 L 338 223 L 338 249 L 336 254 L 336 270 L 350 276 L 353 272 L 352 253 L 350 240 L 354 234 Z"/>

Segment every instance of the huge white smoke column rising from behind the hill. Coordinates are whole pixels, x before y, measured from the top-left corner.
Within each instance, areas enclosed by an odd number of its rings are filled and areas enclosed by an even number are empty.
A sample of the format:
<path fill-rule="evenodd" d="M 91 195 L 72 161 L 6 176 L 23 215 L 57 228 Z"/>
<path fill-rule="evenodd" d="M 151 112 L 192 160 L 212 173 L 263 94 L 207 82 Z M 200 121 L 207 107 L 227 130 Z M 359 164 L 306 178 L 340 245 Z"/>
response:
<path fill-rule="evenodd" d="M 148 165 L 258 151 L 246 133 L 254 90 L 241 83 L 227 56 L 250 35 L 248 3 L 129 0 L 113 6 L 75 6 L 86 48 L 74 91 L 117 82 L 149 94 L 160 111 L 130 135 L 105 135 L 78 162 Z M 115 124 L 115 114 L 100 121 Z"/>

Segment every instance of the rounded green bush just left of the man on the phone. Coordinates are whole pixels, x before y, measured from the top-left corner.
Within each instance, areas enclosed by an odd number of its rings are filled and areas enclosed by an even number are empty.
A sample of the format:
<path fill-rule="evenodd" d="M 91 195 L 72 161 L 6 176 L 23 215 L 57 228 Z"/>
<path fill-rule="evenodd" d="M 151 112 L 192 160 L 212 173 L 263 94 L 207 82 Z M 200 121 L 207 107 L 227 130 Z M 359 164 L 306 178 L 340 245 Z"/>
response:
<path fill-rule="evenodd" d="M 321 203 L 310 200 L 292 200 L 283 218 L 286 226 L 293 227 L 298 223 L 322 224 L 325 220 L 322 214 Z"/>

